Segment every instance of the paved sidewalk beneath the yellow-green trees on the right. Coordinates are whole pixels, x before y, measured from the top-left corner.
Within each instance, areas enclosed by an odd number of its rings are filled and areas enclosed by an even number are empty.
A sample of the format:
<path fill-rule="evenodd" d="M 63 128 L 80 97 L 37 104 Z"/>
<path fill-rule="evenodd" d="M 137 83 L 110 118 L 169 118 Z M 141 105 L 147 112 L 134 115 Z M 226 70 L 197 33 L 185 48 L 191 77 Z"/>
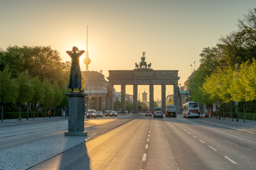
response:
<path fill-rule="evenodd" d="M 236 122 L 236 118 L 226 118 L 225 120 L 223 117 L 221 117 L 221 120 L 216 119 L 216 117 L 207 118 L 207 117 L 201 117 L 199 121 L 205 122 L 208 124 L 218 125 L 229 129 L 235 129 L 240 131 L 246 131 L 248 133 L 256 134 L 256 121 L 253 120 L 245 120 L 245 123 L 243 123 L 243 119 L 238 119 L 238 122 Z"/>

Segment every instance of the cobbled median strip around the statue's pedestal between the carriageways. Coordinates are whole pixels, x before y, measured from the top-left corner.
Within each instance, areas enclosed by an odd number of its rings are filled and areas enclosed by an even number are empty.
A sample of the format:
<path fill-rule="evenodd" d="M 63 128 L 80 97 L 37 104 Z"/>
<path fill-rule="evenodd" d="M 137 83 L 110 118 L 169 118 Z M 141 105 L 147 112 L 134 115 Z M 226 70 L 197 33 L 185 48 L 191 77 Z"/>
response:
<path fill-rule="evenodd" d="M 0 169 L 15 170 L 30 168 L 44 160 L 52 158 L 53 156 L 61 154 L 81 143 L 95 138 L 98 135 L 117 128 L 117 126 L 125 124 L 134 118 L 137 118 L 137 116 L 120 118 L 112 122 L 85 128 L 85 131 L 89 132 L 88 137 L 69 137 L 64 136 L 63 132 L 63 134 L 54 137 L 2 150 L 0 151 Z M 49 143 L 51 145 L 49 145 Z"/>

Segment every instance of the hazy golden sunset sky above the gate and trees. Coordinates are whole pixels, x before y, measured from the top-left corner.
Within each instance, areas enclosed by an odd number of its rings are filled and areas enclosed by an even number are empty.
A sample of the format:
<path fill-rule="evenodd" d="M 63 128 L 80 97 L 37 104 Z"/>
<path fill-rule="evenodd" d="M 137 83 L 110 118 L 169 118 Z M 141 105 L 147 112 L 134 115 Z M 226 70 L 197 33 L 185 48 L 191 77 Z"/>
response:
<path fill-rule="evenodd" d="M 255 7 L 255 0 L 0 0 L 0 48 L 50 45 L 63 61 L 71 61 L 65 52 L 73 46 L 86 50 L 88 25 L 90 71 L 103 70 L 106 78 L 108 70 L 135 69 L 146 52 L 152 69 L 179 70 L 183 86 L 191 69 L 199 67 L 203 48 L 237 31 L 237 20 Z M 167 86 L 166 94 L 172 89 Z M 139 93 L 144 90 L 149 86 L 138 86 Z M 133 87 L 127 86 L 126 93 L 132 95 Z M 154 98 L 160 94 L 160 86 L 155 86 Z"/>

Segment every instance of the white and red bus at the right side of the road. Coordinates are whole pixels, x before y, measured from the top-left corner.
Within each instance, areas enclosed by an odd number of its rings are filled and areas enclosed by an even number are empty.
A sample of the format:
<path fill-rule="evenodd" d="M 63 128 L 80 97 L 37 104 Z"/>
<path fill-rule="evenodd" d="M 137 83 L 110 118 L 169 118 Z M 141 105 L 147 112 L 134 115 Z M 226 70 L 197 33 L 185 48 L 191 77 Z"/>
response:
<path fill-rule="evenodd" d="M 200 107 L 198 102 L 189 101 L 182 106 L 183 117 L 199 117 Z"/>

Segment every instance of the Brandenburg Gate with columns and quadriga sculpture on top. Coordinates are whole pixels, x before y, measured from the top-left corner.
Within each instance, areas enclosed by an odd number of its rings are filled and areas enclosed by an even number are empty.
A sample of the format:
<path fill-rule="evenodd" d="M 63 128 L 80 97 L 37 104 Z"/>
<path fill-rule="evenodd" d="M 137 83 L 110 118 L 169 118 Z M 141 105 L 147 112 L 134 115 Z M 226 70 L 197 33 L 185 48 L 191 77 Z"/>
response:
<path fill-rule="evenodd" d="M 121 85 L 121 113 L 125 113 L 126 85 L 133 85 L 133 111 L 137 112 L 138 108 L 138 85 L 149 85 L 150 87 L 150 109 L 154 110 L 154 85 L 162 86 L 162 110 L 166 112 L 166 85 L 174 86 L 174 105 L 177 110 L 179 102 L 178 76 L 179 70 L 153 70 L 151 63 L 147 65 L 145 57 L 141 57 L 139 65 L 135 63 L 134 70 L 109 70 L 108 80 L 108 109 L 114 109 L 114 85 Z M 150 68 L 149 68 L 150 67 Z"/>

